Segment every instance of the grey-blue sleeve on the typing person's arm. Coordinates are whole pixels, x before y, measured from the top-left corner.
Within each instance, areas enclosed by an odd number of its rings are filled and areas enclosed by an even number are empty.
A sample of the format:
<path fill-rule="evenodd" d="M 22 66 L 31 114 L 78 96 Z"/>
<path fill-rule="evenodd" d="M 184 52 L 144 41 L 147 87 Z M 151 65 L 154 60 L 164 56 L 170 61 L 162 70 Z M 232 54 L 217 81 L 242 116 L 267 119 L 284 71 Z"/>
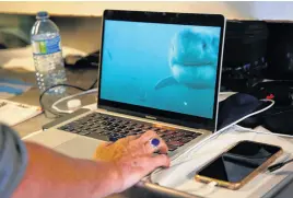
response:
<path fill-rule="evenodd" d="M 23 178 L 27 152 L 15 131 L 0 124 L 0 197 L 10 198 Z"/>

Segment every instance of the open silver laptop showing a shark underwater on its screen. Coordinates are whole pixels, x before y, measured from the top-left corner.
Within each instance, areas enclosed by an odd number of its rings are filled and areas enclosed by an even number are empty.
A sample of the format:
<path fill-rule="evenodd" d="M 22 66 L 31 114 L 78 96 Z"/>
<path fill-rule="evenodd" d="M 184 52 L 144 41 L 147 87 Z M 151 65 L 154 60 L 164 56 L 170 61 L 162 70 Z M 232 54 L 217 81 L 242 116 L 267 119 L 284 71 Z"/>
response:
<path fill-rule="evenodd" d="M 97 109 L 27 140 L 92 159 L 101 142 L 154 130 L 180 155 L 216 131 L 224 31 L 219 14 L 106 10 Z"/>

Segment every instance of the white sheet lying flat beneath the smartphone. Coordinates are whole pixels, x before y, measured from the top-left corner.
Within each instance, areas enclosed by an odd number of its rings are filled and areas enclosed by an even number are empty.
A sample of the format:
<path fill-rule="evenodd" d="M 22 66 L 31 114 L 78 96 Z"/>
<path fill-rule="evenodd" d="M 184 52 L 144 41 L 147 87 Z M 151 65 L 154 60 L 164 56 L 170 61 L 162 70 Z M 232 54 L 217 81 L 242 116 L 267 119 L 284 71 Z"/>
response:
<path fill-rule="evenodd" d="M 263 128 L 257 128 L 256 130 L 269 132 Z M 263 171 L 238 190 L 230 190 L 218 186 L 210 187 L 195 179 L 195 175 L 203 165 L 242 140 L 282 147 L 284 153 L 272 164 L 292 159 L 293 143 L 291 141 L 276 136 L 249 132 L 238 129 L 237 127 L 231 127 L 221 136 L 201 144 L 201 147 L 197 147 L 197 149 L 184 154 L 181 158 L 176 159 L 172 162 L 169 168 L 154 172 L 151 175 L 151 182 L 157 183 L 164 187 L 174 188 L 175 190 L 207 198 L 260 198 L 273 187 L 277 187 L 280 182 L 292 173 L 292 164 L 288 164 L 273 173 Z"/>

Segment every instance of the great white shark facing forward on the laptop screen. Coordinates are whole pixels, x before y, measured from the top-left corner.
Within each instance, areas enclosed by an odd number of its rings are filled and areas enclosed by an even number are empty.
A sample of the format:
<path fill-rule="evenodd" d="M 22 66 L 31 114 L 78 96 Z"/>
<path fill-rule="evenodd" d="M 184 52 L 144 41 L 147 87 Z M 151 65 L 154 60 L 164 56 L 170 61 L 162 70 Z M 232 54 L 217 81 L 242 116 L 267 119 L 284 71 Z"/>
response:
<path fill-rule="evenodd" d="M 171 40 L 168 67 L 172 75 L 157 82 L 155 90 L 181 84 L 189 89 L 213 89 L 220 37 L 214 32 L 186 28 Z"/>

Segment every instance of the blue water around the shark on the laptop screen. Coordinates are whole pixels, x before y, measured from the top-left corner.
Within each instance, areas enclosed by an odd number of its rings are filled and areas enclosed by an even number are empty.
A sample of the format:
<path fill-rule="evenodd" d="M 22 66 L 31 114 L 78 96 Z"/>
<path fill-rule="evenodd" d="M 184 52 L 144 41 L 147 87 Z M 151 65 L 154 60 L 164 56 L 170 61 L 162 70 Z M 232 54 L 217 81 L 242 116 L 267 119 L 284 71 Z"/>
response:
<path fill-rule="evenodd" d="M 101 97 L 212 118 L 215 72 L 211 72 L 212 75 L 209 77 L 214 81 L 212 89 L 191 89 L 181 83 L 154 89 L 162 79 L 173 75 L 169 67 L 171 40 L 175 34 L 187 27 L 106 21 Z M 220 34 L 220 27 L 198 28 Z"/>

